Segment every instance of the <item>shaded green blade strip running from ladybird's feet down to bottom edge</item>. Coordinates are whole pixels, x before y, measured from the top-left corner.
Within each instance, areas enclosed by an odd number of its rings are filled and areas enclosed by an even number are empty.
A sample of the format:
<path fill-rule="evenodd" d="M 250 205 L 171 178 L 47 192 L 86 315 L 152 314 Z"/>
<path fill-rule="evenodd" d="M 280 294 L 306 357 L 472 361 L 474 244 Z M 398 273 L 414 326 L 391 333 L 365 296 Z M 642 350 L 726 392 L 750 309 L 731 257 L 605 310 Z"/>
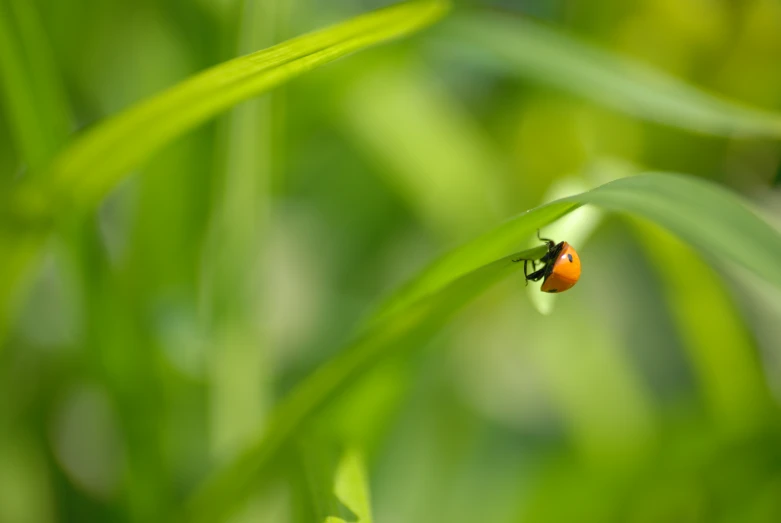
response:
<path fill-rule="evenodd" d="M 222 521 L 251 493 L 277 453 L 302 424 L 378 361 L 395 350 L 414 348 L 436 334 L 464 304 L 523 264 L 510 256 L 450 282 L 436 295 L 378 323 L 317 370 L 277 407 L 265 434 L 219 470 L 196 492 L 185 521 Z"/>

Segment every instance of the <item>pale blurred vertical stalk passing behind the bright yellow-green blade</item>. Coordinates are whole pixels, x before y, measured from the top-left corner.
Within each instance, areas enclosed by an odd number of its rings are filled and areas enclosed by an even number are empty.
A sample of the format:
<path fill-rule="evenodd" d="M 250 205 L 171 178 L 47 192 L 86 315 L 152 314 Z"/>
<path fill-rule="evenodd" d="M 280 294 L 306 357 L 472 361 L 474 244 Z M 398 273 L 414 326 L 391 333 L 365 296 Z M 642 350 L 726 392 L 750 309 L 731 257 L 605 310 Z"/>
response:
<path fill-rule="evenodd" d="M 274 44 L 283 2 L 244 1 L 238 51 Z M 202 282 L 208 296 L 212 343 L 211 445 L 218 459 L 231 456 L 257 433 L 269 408 L 271 350 L 258 318 L 265 299 L 259 276 L 268 235 L 269 189 L 274 160 L 275 98 L 252 100 L 225 119 L 224 161 L 215 177 L 220 190 L 210 224 Z"/>

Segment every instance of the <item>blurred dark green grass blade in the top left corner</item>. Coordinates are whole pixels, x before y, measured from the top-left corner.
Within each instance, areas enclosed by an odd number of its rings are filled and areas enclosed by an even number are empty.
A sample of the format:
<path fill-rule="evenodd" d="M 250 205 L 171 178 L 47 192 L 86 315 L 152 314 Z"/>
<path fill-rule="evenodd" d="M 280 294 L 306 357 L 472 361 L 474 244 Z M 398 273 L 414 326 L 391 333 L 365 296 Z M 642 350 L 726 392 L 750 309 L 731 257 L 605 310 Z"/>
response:
<path fill-rule="evenodd" d="M 70 111 L 34 2 L 0 0 L 0 85 L 22 157 L 43 168 L 68 136 Z"/>

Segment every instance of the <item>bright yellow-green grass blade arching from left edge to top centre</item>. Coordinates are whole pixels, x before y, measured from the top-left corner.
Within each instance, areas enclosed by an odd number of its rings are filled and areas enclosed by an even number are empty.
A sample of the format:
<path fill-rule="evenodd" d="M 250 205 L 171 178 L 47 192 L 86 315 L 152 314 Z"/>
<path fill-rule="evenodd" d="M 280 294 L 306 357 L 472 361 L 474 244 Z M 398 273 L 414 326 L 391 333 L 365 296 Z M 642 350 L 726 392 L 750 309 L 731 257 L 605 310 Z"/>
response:
<path fill-rule="evenodd" d="M 25 224 L 51 227 L 53 217 L 69 206 L 94 207 L 155 151 L 209 118 L 322 64 L 419 30 L 448 8 L 447 0 L 407 2 L 225 62 L 77 138 L 40 176 L 0 195 L 0 225 L 8 229 L 0 234 L 0 335 L 15 310 L 24 272 L 46 237 L 36 229 L 35 238 L 28 238 Z"/>

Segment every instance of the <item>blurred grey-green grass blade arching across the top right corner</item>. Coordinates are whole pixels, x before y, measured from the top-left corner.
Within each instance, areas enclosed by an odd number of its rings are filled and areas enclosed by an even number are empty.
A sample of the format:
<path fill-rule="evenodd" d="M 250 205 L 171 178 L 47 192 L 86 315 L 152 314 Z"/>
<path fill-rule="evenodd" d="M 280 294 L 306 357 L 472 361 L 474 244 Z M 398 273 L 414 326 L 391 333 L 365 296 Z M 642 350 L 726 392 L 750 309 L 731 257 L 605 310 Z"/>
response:
<path fill-rule="evenodd" d="M 446 28 L 464 59 L 639 118 L 718 136 L 781 137 L 779 114 L 743 107 L 519 17 L 470 13 Z"/>

